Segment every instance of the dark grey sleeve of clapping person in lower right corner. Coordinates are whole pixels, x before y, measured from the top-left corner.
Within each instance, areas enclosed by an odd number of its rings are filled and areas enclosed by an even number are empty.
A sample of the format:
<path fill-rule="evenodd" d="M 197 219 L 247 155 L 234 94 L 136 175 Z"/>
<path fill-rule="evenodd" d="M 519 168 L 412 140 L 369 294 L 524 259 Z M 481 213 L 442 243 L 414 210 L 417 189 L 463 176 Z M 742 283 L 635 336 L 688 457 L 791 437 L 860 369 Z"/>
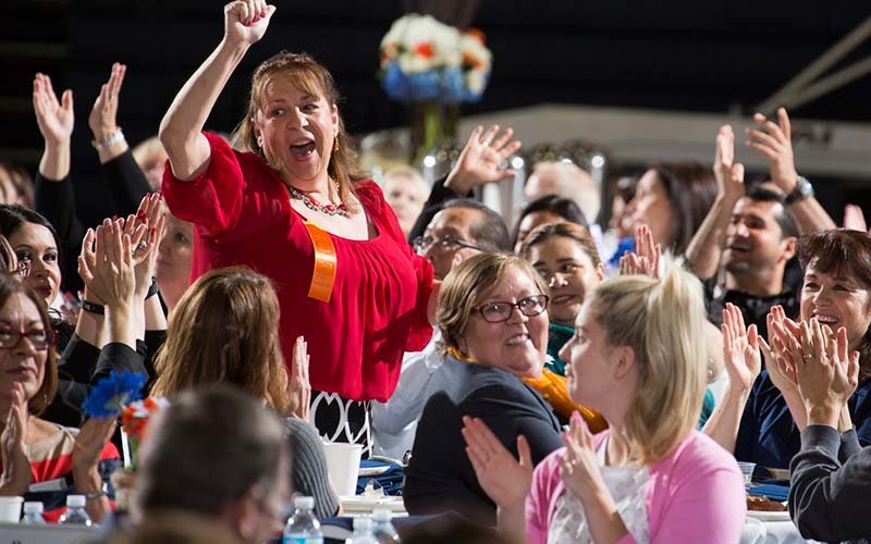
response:
<path fill-rule="evenodd" d="M 871 448 L 837 461 L 841 436 L 825 425 L 808 425 L 801 450 L 790 463 L 789 515 L 801 536 L 842 542 L 871 534 Z"/>

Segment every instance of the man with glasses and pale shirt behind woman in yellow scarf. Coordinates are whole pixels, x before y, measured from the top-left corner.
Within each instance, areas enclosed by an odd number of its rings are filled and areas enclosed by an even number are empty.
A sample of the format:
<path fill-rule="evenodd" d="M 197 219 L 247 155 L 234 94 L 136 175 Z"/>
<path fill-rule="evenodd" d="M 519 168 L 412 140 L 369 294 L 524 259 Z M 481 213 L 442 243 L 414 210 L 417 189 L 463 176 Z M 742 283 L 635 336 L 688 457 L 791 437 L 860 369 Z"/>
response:
<path fill-rule="evenodd" d="M 453 267 L 480 251 L 511 251 L 508 230 L 502 217 L 468 198 L 444 202 L 424 235 L 416 237 L 412 244 L 415 251 L 432 263 L 436 280 L 439 281 L 444 280 Z M 441 334 L 436 329 L 432 339 L 422 351 L 406 353 L 393 396 L 387 403 L 372 403 L 376 455 L 403 460 L 412 448 L 417 420 L 429 398 L 424 392 L 442 362 L 436 350 L 440 338 Z"/>

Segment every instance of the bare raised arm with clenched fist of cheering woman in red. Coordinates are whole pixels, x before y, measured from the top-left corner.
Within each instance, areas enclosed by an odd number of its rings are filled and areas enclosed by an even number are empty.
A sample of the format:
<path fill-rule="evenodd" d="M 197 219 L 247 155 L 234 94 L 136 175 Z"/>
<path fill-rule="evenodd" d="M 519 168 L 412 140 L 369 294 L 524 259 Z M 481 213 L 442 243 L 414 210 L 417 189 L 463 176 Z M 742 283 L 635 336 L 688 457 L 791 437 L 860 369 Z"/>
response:
<path fill-rule="evenodd" d="M 209 165 L 211 151 L 203 136 L 218 96 L 248 48 L 262 38 L 274 5 L 240 0 L 224 7 L 224 38 L 175 96 L 160 123 L 160 143 L 179 180 L 193 180 Z"/>

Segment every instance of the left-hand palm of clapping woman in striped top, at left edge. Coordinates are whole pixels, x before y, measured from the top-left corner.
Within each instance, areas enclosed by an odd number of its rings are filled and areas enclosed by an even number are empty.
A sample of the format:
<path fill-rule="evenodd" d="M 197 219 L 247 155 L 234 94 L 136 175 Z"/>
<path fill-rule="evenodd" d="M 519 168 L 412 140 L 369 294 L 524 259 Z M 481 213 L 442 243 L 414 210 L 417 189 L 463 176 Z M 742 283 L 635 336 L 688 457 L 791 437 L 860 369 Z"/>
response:
<path fill-rule="evenodd" d="M 21 383 L 13 383 L 7 426 L 0 434 L 0 454 L 3 462 L 3 474 L 0 475 L 2 495 L 24 495 L 33 482 L 30 461 L 24 450 L 26 442 L 27 403 L 24 399 L 24 386 Z"/>

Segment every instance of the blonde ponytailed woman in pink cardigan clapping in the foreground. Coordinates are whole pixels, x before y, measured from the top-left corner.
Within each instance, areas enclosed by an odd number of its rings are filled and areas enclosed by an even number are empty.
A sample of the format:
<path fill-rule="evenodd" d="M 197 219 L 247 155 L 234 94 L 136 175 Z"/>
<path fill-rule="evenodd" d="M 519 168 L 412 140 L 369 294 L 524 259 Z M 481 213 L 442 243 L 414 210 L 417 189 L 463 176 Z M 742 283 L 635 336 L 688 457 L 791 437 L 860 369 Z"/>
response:
<path fill-rule="evenodd" d="M 500 529 L 530 543 L 736 543 L 746 515 L 735 459 L 695 430 L 706 380 L 702 288 L 671 267 L 661 280 L 628 275 L 585 301 L 568 361 L 573 400 L 598 410 L 596 436 L 575 415 L 565 447 L 532 468 L 477 419 L 463 435 Z"/>

